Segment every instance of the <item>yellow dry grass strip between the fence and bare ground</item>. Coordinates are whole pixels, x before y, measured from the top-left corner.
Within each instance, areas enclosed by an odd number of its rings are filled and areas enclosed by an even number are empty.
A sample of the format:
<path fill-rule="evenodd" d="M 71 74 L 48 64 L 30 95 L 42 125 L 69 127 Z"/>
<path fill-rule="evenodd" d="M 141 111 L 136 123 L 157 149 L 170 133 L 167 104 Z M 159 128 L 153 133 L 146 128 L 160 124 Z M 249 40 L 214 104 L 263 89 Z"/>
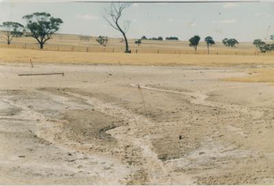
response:
<path fill-rule="evenodd" d="M 176 55 L 156 53 L 83 53 L 0 49 L 0 62 L 49 62 L 73 64 L 132 64 L 145 66 L 240 66 L 272 65 L 273 55 Z"/>

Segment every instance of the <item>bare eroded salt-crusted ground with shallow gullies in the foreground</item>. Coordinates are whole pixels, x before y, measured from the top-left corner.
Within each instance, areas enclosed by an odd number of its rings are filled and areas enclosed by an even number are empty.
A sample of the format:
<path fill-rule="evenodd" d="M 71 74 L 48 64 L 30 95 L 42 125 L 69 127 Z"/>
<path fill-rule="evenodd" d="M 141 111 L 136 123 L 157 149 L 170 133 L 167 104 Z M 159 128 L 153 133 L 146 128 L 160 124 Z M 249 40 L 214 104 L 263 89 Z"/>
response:
<path fill-rule="evenodd" d="M 0 71 L 0 185 L 274 184 L 274 87 L 221 81 L 245 67 Z"/>

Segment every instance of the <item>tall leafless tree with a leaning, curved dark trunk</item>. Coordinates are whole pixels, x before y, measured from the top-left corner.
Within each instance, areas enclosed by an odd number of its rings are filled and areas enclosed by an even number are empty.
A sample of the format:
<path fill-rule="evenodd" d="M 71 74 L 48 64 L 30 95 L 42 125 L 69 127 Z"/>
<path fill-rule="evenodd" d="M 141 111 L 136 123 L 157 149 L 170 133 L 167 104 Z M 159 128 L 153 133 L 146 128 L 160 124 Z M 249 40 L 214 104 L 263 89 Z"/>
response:
<path fill-rule="evenodd" d="M 121 32 L 125 41 L 125 53 L 130 53 L 129 44 L 127 42 L 127 33 L 129 29 L 129 21 L 125 21 L 123 27 L 119 20 L 122 16 L 123 10 L 128 8 L 130 3 L 111 3 L 108 7 L 104 8 L 102 11 L 102 16 L 107 21 L 111 27 Z"/>

